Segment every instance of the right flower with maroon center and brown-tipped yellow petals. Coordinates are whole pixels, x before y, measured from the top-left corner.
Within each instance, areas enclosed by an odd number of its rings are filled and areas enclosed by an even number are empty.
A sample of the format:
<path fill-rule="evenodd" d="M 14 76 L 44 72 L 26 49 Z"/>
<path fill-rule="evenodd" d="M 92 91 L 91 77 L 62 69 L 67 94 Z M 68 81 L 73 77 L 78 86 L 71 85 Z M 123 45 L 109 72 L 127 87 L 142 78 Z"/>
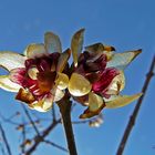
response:
<path fill-rule="evenodd" d="M 114 53 L 111 45 L 95 43 L 83 48 L 84 29 L 78 31 L 71 41 L 73 69 L 69 81 L 69 92 L 73 99 L 87 106 L 81 118 L 99 115 L 103 107 L 124 106 L 138 99 L 135 95 L 120 95 L 125 86 L 124 69 L 142 50 Z"/>

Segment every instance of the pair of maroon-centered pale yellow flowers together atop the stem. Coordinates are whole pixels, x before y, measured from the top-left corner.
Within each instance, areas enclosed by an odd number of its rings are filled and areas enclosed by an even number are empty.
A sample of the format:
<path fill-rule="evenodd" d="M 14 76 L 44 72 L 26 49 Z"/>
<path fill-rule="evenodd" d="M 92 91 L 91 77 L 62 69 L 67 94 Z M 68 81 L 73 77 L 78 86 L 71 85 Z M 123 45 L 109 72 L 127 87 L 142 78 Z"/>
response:
<path fill-rule="evenodd" d="M 0 52 L 0 65 L 9 71 L 8 75 L 0 75 L 0 87 L 17 92 L 17 100 L 40 112 L 49 111 L 53 102 L 68 94 L 87 106 L 81 118 L 138 99 L 141 93 L 128 96 L 120 92 L 125 85 L 124 69 L 141 50 L 115 53 L 113 46 L 95 43 L 83 51 L 83 33 L 84 29 L 78 31 L 72 37 L 71 50 L 64 52 L 59 37 L 52 32 L 44 34 L 44 44 L 28 45 L 23 55 Z"/>

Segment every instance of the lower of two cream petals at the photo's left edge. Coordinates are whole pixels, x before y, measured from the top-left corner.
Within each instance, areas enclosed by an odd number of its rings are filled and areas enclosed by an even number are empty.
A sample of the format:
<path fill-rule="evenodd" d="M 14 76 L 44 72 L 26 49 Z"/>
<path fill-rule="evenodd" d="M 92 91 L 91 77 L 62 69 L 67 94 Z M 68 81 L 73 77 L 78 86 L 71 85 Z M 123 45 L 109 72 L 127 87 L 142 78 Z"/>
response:
<path fill-rule="evenodd" d="M 0 87 L 9 92 L 18 92 L 21 86 L 11 82 L 9 75 L 0 75 Z"/>

